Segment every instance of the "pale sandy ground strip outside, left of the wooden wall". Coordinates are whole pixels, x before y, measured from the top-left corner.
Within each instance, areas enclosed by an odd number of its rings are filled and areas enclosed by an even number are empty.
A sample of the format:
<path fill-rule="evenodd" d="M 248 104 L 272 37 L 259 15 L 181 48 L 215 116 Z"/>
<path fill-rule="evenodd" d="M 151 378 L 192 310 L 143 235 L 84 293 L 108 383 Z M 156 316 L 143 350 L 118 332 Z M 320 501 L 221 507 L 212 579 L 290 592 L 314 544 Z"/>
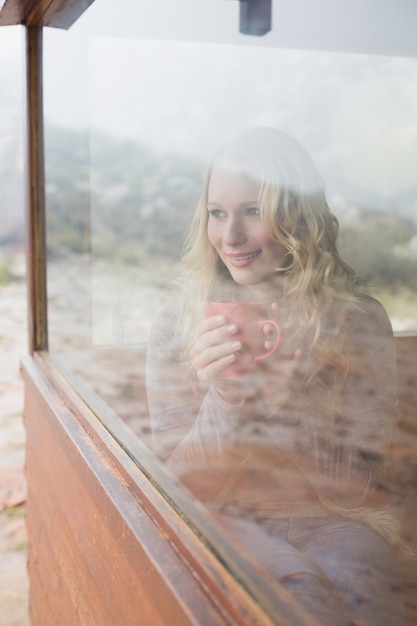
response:
<path fill-rule="evenodd" d="M 28 626 L 23 383 L 27 352 L 23 280 L 0 287 L 0 626 Z"/>

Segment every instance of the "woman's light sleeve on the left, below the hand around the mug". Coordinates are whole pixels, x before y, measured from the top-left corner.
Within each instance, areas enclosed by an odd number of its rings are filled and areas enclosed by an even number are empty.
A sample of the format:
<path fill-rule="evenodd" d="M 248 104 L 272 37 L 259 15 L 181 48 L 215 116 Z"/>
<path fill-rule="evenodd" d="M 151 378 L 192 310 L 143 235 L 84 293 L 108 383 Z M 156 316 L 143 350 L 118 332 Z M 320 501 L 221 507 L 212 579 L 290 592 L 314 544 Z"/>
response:
<path fill-rule="evenodd" d="M 221 455 L 239 418 L 240 408 L 225 402 L 212 387 L 201 390 L 187 375 L 175 333 L 176 312 L 163 310 L 148 342 L 146 387 L 152 446 L 170 463 L 204 460 L 204 448 Z"/>

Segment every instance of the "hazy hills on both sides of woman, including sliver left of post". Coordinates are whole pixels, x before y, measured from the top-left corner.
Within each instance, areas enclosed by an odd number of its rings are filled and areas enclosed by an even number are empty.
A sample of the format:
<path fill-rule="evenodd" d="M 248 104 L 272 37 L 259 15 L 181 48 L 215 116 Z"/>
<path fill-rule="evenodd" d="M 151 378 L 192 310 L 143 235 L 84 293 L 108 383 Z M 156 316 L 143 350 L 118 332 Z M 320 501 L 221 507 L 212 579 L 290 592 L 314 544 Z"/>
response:
<path fill-rule="evenodd" d="M 0 127 L 0 244 L 23 237 L 18 126 L 16 112 L 6 109 Z M 47 126 L 45 141 L 49 254 L 93 251 L 95 257 L 133 264 L 149 255 L 179 258 L 200 193 L 201 162 L 95 131 Z M 417 290 L 417 190 L 384 202 L 342 184 L 338 191 L 336 202 L 330 189 L 329 201 L 341 222 L 344 257 L 367 281 L 394 287 L 405 282 Z"/>

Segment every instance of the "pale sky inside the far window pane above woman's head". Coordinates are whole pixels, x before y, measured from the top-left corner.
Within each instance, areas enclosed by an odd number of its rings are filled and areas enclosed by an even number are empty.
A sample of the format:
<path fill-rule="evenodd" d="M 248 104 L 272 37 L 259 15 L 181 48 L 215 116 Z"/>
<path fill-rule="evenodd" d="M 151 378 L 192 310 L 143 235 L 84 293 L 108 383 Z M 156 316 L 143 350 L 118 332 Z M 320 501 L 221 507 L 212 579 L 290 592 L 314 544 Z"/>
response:
<path fill-rule="evenodd" d="M 355 186 L 417 186 L 414 59 L 108 38 L 89 58 L 90 120 L 115 134 L 204 154 L 247 126 L 279 127 Z"/>

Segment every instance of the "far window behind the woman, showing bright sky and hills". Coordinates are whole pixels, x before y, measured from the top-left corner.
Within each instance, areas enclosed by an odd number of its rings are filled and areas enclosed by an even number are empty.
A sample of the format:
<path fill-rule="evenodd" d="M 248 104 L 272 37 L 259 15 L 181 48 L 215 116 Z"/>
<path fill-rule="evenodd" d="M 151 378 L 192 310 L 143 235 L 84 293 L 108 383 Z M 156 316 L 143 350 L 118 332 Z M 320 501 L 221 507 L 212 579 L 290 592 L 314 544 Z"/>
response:
<path fill-rule="evenodd" d="M 395 331 L 416 328 L 414 59 L 109 37 L 88 51 L 93 259 L 170 257 L 171 269 L 215 147 L 282 128 L 318 164 L 343 256 Z M 118 342 L 101 303 L 94 321 L 99 343 Z"/>

